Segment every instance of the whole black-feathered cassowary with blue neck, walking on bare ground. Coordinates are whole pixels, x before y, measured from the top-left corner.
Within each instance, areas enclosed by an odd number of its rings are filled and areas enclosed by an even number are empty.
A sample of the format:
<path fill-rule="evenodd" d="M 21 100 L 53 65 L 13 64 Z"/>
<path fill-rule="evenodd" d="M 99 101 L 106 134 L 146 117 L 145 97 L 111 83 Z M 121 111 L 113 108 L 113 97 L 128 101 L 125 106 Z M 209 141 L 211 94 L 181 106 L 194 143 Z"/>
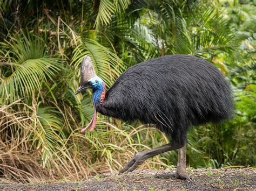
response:
<path fill-rule="evenodd" d="M 132 66 L 108 91 L 90 57 L 84 56 L 75 95 L 89 88 L 95 112 L 81 132 L 95 128 L 99 112 L 155 125 L 171 139 L 169 144 L 137 153 L 120 173 L 134 171 L 146 159 L 179 148 L 177 172 L 159 177 L 191 180 L 186 174 L 188 128 L 218 123 L 233 114 L 231 88 L 223 74 L 212 63 L 191 55 L 166 55 Z"/>

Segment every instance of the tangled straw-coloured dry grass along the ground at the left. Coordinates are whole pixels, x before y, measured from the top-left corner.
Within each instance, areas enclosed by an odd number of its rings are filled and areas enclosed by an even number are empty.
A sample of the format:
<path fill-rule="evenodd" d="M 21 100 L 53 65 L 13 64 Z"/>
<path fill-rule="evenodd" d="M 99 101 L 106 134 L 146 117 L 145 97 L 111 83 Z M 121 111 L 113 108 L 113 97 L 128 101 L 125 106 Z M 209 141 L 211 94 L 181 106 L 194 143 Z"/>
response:
<path fill-rule="evenodd" d="M 112 125 L 104 119 L 98 122 L 97 131 L 83 135 L 73 130 L 75 125 L 70 120 L 58 127 L 48 115 L 42 116 L 35 104 L 29 107 L 21 100 L 1 105 L 0 176 L 24 183 L 82 180 L 97 173 L 117 172 L 134 153 L 148 148 L 142 138 L 154 135 L 143 126 L 126 132 L 120 122 L 114 121 L 117 125 Z M 42 118 L 48 120 L 48 125 Z M 149 162 L 142 167 L 166 166 L 158 157 L 151 160 L 152 165 Z"/>

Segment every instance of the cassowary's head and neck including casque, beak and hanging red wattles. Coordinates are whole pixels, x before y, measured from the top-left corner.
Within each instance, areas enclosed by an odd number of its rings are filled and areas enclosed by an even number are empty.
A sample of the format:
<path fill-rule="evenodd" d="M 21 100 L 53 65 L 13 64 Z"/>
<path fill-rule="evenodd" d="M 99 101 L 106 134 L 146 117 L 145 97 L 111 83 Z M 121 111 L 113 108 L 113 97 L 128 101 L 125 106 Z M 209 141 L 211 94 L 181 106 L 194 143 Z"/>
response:
<path fill-rule="evenodd" d="M 103 104 L 105 98 L 105 83 L 103 80 L 96 75 L 95 69 L 93 68 L 91 58 L 89 56 L 84 56 L 81 64 L 81 76 L 79 87 L 76 90 L 75 95 L 82 93 L 86 89 L 92 89 L 92 102 L 94 106 L 94 115 L 89 123 L 81 132 L 85 132 L 90 128 L 92 131 L 95 128 L 96 124 L 96 103 L 99 101 L 100 104 Z"/>

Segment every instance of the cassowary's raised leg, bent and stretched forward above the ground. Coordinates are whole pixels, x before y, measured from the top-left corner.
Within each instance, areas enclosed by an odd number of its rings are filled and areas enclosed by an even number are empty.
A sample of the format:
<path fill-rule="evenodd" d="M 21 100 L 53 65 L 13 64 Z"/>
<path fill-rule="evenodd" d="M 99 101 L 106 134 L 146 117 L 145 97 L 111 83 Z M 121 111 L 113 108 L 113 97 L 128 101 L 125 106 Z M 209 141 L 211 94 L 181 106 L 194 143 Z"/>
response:
<path fill-rule="evenodd" d="M 184 143 L 185 144 L 185 143 Z M 119 171 L 119 173 L 124 172 L 132 172 L 136 169 L 140 164 L 142 164 L 146 159 L 154 157 L 158 154 L 176 150 L 184 146 L 184 144 L 177 144 L 177 143 L 169 143 L 163 146 L 159 146 L 157 148 L 153 148 L 149 151 L 139 152 L 134 155 L 134 157 L 124 166 L 123 169 Z M 186 161 L 185 161 L 186 164 Z"/>

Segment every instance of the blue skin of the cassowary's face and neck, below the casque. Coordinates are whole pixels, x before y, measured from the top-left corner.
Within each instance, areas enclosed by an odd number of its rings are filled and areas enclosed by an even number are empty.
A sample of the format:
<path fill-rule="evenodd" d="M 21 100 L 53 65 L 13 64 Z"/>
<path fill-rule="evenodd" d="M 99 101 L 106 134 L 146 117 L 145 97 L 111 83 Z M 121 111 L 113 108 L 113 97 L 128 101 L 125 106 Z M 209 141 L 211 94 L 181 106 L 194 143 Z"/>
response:
<path fill-rule="evenodd" d="M 97 103 L 97 101 L 100 100 L 100 95 L 102 95 L 103 91 L 104 91 L 104 87 L 103 87 L 103 80 L 98 77 L 92 77 L 91 79 L 87 80 L 87 82 L 91 82 L 92 84 L 92 102 L 95 105 Z"/>

